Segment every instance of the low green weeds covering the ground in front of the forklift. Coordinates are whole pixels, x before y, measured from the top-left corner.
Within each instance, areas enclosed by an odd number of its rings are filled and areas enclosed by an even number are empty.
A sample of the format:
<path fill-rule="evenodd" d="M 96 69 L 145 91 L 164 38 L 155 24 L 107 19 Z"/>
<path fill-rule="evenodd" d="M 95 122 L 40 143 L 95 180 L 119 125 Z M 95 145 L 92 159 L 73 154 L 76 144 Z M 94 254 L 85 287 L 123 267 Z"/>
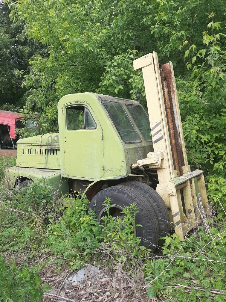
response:
<path fill-rule="evenodd" d="M 4 169 L 13 164 L 13 160 L 6 162 L 1 157 L 0 163 Z M 44 180 L 20 192 L 16 188 L 2 190 L 1 253 L 7 258 L 20 259 L 22 266 L 33 263 L 34 272 L 50 262 L 57 265 L 58 271 L 65 264 L 74 271 L 86 263 L 101 263 L 115 273 L 120 272 L 122 280 L 140 280 L 143 276 L 141 292 L 147 291 L 149 298 L 158 295 L 169 302 L 225 301 L 226 229 L 225 214 L 222 214 L 225 200 L 218 186 L 210 185 L 208 192 L 218 216 L 209 217 L 194 233 L 188 234 L 183 243 L 175 234 L 165 237 L 162 253 L 152 255 L 150 250 L 138 246 L 140 240 L 133 236 L 137 212 L 134 205 L 124 209 L 123 221 L 111 217 L 107 208 L 103 227 L 100 227 L 94 213 L 87 213 L 87 199 L 76 192 L 73 198 L 65 194 L 59 200 Z M 109 206 L 108 199 L 105 205 Z M 39 260 L 40 253 L 48 255 L 44 263 Z M 2 269 L 8 270 L 2 263 Z M 27 274 L 29 292 L 30 281 L 37 277 L 26 266 L 22 271 L 12 268 L 18 276 L 25 278 Z M 10 284 L 13 288 L 14 283 Z M 40 284 L 39 279 L 36 284 Z M 24 292 L 20 294 L 23 296 Z M 40 290 L 33 295 L 34 301 L 39 301 Z"/>

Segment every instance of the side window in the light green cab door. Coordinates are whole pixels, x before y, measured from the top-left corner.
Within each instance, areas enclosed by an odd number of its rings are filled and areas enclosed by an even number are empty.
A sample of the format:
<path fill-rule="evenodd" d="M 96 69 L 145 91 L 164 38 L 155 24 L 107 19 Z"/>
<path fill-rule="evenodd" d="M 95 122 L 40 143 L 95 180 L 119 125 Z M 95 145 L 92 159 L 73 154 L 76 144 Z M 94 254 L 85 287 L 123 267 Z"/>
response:
<path fill-rule="evenodd" d="M 96 123 L 85 106 L 72 106 L 66 109 L 67 130 L 95 129 Z"/>

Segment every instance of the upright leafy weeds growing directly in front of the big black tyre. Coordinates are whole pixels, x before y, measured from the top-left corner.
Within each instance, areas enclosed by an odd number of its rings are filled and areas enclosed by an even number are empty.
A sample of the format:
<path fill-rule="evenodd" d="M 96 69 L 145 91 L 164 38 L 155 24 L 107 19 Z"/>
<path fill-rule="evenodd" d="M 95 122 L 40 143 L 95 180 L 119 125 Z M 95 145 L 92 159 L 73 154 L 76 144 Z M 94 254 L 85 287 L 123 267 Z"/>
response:
<path fill-rule="evenodd" d="M 106 206 L 106 216 L 102 217 L 102 251 L 107 256 L 104 263 L 108 263 L 108 255 L 110 255 L 109 268 L 116 270 L 120 263 L 126 272 L 137 270 L 137 265 L 144 255 L 149 255 L 150 250 L 144 246 L 139 246 L 140 239 L 135 237 L 135 215 L 137 207 L 135 204 L 124 207 L 121 217 L 112 217 L 109 215 L 110 199 L 106 198 L 104 205 Z M 136 273 L 133 273 L 135 277 Z"/>

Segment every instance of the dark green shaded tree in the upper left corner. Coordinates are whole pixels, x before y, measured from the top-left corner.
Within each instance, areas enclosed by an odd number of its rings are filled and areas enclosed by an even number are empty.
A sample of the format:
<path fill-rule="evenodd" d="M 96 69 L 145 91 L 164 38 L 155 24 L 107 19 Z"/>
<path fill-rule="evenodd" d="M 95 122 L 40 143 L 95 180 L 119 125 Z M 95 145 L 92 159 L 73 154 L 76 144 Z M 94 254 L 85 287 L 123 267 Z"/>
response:
<path fill-rule="evenodd" d="M 25 103 L 21 71 L 28 72 L 31 56 L 40 50 L 40 45 L 28 39 L 24 24 L 10 20 L 8 5 L 0 2 L 0 105 L 22 107 Z"/>

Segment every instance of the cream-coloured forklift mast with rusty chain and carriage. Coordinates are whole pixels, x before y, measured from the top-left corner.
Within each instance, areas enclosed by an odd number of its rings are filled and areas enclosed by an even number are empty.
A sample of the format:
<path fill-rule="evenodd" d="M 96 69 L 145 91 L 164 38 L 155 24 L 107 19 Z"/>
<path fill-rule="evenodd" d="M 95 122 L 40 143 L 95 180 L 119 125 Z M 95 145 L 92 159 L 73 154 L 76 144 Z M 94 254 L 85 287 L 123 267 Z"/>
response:
<path fill-rule="evenodd" d="M 180 240 L 209 212 L 203 172 L 191 172 L 180 119 L 172 62 L 160 65 L 157 53 L 133 61 L 142 70 L 154 152 L 132 168 L 148 165 L 158 172 L 156 191 L 169 209 Z"/>

